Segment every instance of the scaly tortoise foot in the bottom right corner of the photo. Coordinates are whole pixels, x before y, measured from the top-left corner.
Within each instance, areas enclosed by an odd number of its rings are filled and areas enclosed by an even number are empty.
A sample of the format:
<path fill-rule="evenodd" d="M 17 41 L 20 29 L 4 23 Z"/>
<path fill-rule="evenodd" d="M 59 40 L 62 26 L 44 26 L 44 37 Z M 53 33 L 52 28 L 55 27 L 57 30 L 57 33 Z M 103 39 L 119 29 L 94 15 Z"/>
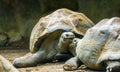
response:
<path fill-rule="evenodd" d="M 108 61 L 106 72 L 120 72 L 120 62 L 119 61 Z"/>

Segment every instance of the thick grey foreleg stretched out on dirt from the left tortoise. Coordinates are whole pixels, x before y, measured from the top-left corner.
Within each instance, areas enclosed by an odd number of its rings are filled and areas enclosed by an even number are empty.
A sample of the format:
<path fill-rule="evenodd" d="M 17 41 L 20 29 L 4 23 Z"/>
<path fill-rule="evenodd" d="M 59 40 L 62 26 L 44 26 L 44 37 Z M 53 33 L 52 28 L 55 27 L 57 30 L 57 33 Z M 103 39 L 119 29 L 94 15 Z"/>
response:
<path fill-rule="evenodd" d="M 39 62 L 44 61 L 45 51 L 39 50 L 38 52 L 30 55 L 25 55 L 20 58 L 16 58 L 13 61 L 15 67 L 32 67 L 36 66 Z"/>

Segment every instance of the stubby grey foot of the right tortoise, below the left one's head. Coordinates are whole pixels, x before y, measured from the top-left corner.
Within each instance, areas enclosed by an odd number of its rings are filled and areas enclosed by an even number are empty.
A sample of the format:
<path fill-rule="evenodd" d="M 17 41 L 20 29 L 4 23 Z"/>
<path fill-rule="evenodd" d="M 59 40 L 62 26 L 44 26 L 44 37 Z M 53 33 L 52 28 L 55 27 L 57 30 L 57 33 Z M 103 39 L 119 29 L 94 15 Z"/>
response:
<path fill-rule="evenodd" d="M 78 57 L 73 57 L 65 62 L 63 69 L 66 71 L 76 70 L 83 63 L 80 61 Z"/>

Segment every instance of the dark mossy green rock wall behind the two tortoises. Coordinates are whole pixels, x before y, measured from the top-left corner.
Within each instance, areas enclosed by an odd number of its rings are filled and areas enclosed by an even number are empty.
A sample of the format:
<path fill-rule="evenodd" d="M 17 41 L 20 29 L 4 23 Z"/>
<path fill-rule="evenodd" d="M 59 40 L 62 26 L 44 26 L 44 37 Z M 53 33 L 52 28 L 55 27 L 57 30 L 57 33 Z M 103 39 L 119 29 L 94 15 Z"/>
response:
<path fill-rule="evenodd" d="M 0 47 L 28 47 L 37 21 L 59 8 L 82 12 L 94 23 L 120 17 L 119 0 L 0 0 Z"/>

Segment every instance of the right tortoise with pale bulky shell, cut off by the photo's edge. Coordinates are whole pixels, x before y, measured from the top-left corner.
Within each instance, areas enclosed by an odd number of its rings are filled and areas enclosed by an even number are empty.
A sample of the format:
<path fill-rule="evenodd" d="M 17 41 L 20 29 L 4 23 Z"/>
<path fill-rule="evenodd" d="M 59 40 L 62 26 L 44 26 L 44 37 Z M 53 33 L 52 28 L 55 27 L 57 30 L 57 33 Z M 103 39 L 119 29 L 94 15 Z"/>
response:
<path fill-rule="evenodd" d="M 75 70 L 82 63 L 88 68 L 120 72 L 120 18 L 103 19 L 90 28 L 77 43 L 77 55 L 63 68 Z"/>

